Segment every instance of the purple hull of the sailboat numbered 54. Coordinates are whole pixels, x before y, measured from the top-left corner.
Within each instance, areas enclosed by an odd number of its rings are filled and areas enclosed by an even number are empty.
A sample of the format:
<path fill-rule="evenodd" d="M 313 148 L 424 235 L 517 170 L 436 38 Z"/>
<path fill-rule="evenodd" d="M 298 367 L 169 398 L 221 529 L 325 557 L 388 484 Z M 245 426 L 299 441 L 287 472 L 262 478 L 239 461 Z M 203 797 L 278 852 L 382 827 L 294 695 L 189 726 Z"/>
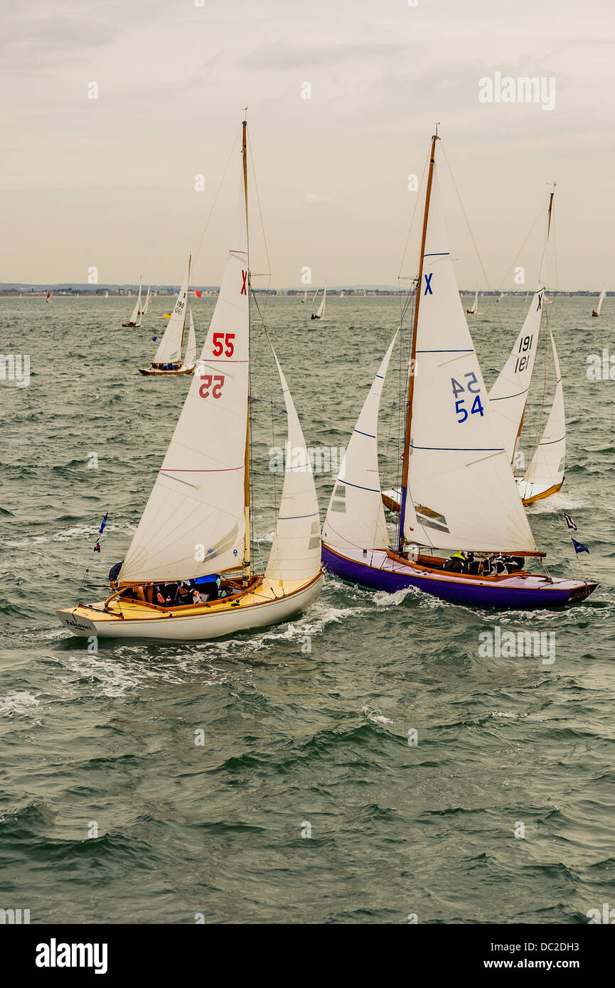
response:
<path fill-rule="evenodd" d="M 382 550 L 365 554 L 358 550 L 356 558 L 342 555 L 322 544 L 322 563 L 329 573 L 334 573 L 349 583 L 358 583 L 372 590 L 384 590 L 395 594 L 397 590 L 416 587 L 452 604 L 465 604 L 476 608 L 553 608 L 564 607 L 584 600 L 597 587 L 597 583 L 580 583 L 577 580 L 548 580 L 545 576 L 511 575 L 497 580 L 464 579 L 448 573 L 422 573 L 404 563 L 392 559 Z M 365 560 L 365 561 L 364 561 Z"/>

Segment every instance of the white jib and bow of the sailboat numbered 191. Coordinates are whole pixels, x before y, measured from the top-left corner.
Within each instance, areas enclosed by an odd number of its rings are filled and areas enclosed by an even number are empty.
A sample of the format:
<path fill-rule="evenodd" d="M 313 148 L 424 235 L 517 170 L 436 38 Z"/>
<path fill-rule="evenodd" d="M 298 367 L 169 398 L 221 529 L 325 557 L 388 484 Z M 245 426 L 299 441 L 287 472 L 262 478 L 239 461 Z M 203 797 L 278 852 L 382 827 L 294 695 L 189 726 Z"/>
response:
<path fill-rule="evenodd" d="M 556 350 L 551 326 L 549 326 L 551 350 L 556 376 L 556 392 L 547 425 L 543 431 L 530 465 L 522 479 L 518 481 L 519 493 L 522 498 L 538 498 L 545 496 L 547 491 L 559 490 L 564 481 L 566 465 L 566 411 L 564 408 L 564 390 L 562 387 L 562 372 Z"/>

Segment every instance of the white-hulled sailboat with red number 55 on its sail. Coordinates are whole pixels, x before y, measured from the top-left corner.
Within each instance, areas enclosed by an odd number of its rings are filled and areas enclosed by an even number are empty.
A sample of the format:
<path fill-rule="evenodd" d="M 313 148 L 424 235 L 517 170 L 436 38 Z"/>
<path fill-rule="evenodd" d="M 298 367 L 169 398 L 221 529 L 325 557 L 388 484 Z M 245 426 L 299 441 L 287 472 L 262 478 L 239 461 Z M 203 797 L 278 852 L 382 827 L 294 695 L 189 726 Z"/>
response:
<path fill-rule="evenodd" d="M 254 572 L 250 559 L 245 121 L 242 133 L 237 227 L 199 373 L 117 574 L 117 589 L 99 604 L 57 612 L 73 634 L 173 641 L 216 638 L 293 617 L 320 592 L 320 525 L 313 474 L 275 353 L 293 456 L 286 465 L 265 571 Z"/>

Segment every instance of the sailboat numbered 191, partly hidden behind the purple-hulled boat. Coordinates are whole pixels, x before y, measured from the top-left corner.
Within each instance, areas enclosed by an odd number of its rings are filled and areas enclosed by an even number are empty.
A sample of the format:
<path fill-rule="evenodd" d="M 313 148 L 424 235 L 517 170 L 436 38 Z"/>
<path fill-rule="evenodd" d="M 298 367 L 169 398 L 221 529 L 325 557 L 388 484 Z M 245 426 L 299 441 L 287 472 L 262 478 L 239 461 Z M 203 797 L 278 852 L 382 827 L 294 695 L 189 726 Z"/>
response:
<path fill-rule="evenodd" d="M 532 504 L 534 501 L 555 494 L 564 483 L 564 467 L 566 462 L 564 391 L 562 388 L 562 374 L 560 372 L 558 352 L 547 311 L 547 302 L 549 299 L 546 294 L 544 274 L 547 248 L 551 234 L 553 204 L 554 193 L 552 192 L 549 197 L 549 206 L 547 209 L 547 240 L 536 290 L 534 291 L 525 322 L 517 336 L 514 347 L 489 391 L 489 403 L 495 415 L 499 435 L 514 471 L 517 462 L 517 453 L 521 443 L 528 394 L 536 368 L 536 356 L 541 338 L 541 328 L 544 323 L 549 331 L 551 341 L 555 394 L 553 405 L 547 419 L 547 425 L 542 437 L 536 444 L 531 462 L 525 472 L 516 478 L 519 493 L 524 504 Z"/>

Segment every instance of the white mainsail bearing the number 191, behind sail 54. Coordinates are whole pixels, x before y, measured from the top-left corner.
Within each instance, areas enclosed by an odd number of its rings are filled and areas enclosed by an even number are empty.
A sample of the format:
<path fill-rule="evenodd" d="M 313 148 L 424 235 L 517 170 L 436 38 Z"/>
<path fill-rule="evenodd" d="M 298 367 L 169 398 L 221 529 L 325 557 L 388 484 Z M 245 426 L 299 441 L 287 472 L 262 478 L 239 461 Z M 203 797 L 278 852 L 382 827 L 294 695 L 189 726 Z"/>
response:
<path fill-rule="evenodd" d="M 495 416 L 497 429 L 510 463 L 513 462 L 517 452 L 527 395 L 534 373 L 544 294 L 545 283 L 539 278 L 521 332 L 489 391 L 491 411 Z"/>

